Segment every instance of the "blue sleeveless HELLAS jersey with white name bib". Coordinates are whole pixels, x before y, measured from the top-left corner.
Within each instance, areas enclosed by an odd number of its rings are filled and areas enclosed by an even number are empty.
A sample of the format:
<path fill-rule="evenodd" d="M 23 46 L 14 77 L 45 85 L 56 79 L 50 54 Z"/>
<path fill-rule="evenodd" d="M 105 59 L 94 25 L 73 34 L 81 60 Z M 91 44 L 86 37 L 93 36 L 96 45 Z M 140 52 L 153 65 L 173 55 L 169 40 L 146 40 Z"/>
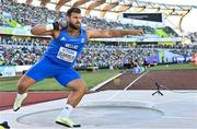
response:
<path fill-rule="evenodd" d="M 72 67 L 86 43 L 83 28 L 78 37 L 69 36 L 66 30 L 61 30 L 59 36 L 49 43 L 44 56 L 61 67 Z"/>

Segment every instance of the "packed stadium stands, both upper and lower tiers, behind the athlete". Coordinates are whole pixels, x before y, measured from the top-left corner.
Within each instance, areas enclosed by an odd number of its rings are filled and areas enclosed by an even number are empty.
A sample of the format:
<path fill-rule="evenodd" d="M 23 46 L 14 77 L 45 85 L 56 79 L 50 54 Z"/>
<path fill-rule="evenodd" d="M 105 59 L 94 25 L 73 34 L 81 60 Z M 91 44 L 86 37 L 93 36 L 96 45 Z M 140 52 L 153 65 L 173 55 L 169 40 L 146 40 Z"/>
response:
<path fill-rule="evenodd" d="M 3 3 L 7 4 L 3 4 Z M 63 12 L 55 12 L 47 8 L 32 7 L 24 3 L 15 3 L 1 0 L 0 26 L 23 27 L 34 26 L 37 23 L 51 23 L 63 16 Z M 86 27 L 111 30 L 143 30 L 147 37 L 177 37 L 178 35 L 169 26 L 154 28 L 148 25 L 134 25 L 120 21 L 109 21 L 96 16 L 83 16 Z M 146 37 L 144 36 L 144 37 Z M 193 38 L 196 34 L 190 35 Z M 129 36 L 127 36 L 129 37 Z M 48 37 L 18 37 L 13 35 L 0 35 L 0 66 L 34 64 L 43 55 L 49 42 Z M 125 45 L 125 46 L 124 46 Z M 196 45 L 115 45 L 107 43 L 89 44 L 81 57 L 77 60 L 76 69 L 123 68 L 125 63 L 141 66 L 146 60 L 159 54 L 160 49 L 170 49 L 172 52 L 192 56 L 196 52 Z"/>

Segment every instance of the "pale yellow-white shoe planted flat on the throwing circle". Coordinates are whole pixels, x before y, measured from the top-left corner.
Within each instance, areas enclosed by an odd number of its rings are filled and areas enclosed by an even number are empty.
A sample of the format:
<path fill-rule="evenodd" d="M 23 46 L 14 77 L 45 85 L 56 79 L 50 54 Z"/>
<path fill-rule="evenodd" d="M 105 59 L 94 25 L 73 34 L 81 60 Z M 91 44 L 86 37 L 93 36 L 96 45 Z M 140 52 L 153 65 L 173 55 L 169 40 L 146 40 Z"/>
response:
<path fill-rule="evenodd" d="M 69 118 L 58 117 L 56 119 L 56 124 L 69 127 L 69 128 L 78 128 L 81 127 L 81 125 L 72 122 Z"/>

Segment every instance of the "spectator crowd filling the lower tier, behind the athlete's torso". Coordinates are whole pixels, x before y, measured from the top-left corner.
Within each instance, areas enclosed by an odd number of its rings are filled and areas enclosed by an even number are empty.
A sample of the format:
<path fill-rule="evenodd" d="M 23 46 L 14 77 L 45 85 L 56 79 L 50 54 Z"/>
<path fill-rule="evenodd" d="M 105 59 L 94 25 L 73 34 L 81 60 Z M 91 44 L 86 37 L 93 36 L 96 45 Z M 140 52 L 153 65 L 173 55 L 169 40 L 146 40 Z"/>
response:
<path fill-rule="evenodd" d="M 2 37 L 1 37 L 2 38 Z M 49 38 L 20 38 L 3 36 L 0 44 L 0 66 L 34 64 L 44 54 Z M 106 45 L 105 43 L 88 44 L 77 60 L 76 68 L 86 67 L 120 68 L 125 63 L 137 62 L 141 66 L 160 50 L 192 56 L 197 52 L 197 45 Z"/>

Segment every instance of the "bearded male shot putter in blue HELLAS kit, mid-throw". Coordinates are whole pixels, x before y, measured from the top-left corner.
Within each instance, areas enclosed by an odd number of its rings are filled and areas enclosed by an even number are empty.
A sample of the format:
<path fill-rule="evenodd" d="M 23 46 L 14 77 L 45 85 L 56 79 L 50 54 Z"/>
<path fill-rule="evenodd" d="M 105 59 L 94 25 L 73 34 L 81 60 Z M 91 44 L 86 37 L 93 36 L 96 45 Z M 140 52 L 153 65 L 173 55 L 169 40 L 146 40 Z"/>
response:
<path fill-rule="evenodd" d="M 79 127 L 69 119 L 69 114 L 81 101 L 88 86 L 72 68 L 89 38 L 123 37 L 125 35 L 142 35 L 141 31 L 83 30 L 81 27 L 81 10 L 71 8 L 67 11 L 67 21 L 53 24 L 38 24 L 31 30 L 33 35 L 50 35 L 51 42 L 44 56 L 20 79 L 18 95 L 13 110 L 20 109 L 27 96 L 27 90 L 34 83 L 46 78 L 55 78 L 62 86 L 71 89 L 65 108 L 56 119 L 57 124 L 67 127 Z M 67 24 L 65 24 L 67 22 Z"/>

